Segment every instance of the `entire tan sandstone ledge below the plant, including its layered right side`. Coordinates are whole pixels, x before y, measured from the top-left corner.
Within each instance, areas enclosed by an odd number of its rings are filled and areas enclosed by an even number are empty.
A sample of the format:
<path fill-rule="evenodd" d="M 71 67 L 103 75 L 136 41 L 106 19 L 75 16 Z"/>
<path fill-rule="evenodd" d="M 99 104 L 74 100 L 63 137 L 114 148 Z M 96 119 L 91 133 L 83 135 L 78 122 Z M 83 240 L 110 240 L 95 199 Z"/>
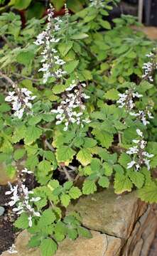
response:
<path fill-rule="evenodd" d="M 149 247 L 157 230 L 156 206 L 141 202 L 136 192 L 117 196 L 113 189 L 80 198 L 67 211 L 82 215 L 83 225 L 92 230 L 92 238 L 65 239 L 56 256 L 149 256 Z M 16 239 L 16 256 L 40 256 L 28 249 L 25 231 Z M 9 256 L 3 252 L 1 256 Z"/>

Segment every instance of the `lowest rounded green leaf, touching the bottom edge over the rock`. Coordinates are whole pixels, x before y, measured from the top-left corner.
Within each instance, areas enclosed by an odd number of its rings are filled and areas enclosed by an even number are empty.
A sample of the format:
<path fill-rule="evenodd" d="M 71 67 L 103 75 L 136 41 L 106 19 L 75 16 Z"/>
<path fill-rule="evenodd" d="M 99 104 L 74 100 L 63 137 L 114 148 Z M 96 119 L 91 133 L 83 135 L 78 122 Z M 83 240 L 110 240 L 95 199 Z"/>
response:
<path fill-rule="evenodd" d="M 42 256 L 53 256 L 57 249 L 58 245 L 50 238 L 43 239 L 40 244 L 40 252 Z"/>

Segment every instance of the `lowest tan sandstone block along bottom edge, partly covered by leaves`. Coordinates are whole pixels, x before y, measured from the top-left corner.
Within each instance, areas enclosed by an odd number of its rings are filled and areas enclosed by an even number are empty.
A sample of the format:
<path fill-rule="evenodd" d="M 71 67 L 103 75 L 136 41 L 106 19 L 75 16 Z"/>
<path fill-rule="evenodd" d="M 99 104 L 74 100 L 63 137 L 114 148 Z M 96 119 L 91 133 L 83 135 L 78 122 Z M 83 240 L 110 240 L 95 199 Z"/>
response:
<path fill-rule="evenodd" d="M 121 240 L 109 235 L 92 231 L 92 238 L 77 238 L 72 241 L 65 239 L 60 243 L 56 256 L 119 256 Z M 37 249 L 28 249 L 29 235 L 23 231 L 16 240 L 16 256 L 40 256 Z M 9 252 L 3 252 L 1 256 L 10 256 Z"/>

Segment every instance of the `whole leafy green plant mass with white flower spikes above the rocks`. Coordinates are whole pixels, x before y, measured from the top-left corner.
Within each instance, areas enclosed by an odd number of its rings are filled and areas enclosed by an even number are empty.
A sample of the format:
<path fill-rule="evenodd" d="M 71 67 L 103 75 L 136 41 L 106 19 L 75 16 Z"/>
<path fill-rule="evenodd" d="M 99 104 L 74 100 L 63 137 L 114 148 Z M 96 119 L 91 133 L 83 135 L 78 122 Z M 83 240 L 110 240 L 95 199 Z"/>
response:
<path fill-rule="evenodd" d="M 114 186 L 157 201 L 156 44 L 131 16 L 107 21 L 117 3 L 90 1 L 72 16 L 65 5 L 62 17 L 50 6 L 23 29 L 18 15 L 0 16 L 0 161 L 17 178 L 6 196 L 43 256 L 91 237 L 66 214 L 82 195 Z"/>

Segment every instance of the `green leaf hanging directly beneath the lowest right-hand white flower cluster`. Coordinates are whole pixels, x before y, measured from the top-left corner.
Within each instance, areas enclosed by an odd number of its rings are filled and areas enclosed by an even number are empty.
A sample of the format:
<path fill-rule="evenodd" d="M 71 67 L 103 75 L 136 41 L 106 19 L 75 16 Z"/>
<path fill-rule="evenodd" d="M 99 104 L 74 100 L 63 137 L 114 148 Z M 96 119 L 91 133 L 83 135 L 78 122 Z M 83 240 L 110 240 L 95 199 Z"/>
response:
<path fill-rule="evenodd" d="M 131 179 L 132 183 L 134 183 L 134 185 L 137 188 L 141 188 L 144 185 L 144 175 L 141 174 L 139 171 L 128 171 L 129 174 L 129 178 Z"/>

